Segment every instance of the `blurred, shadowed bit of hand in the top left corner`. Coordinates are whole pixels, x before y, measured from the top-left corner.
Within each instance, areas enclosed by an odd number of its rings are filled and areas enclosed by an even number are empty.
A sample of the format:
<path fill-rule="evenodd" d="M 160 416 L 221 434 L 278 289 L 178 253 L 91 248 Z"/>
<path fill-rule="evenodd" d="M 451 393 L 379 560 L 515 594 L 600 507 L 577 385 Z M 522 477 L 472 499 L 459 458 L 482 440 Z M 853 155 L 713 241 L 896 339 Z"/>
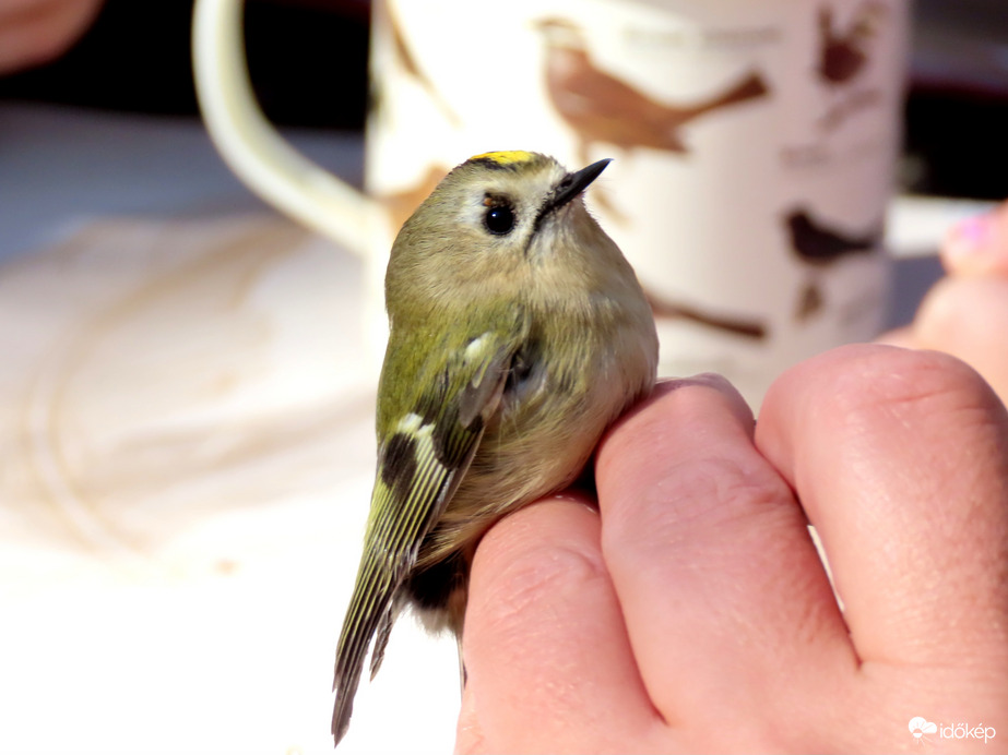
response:
<path fill-rule="evenodd" d="M 61 56 L 91 26 L 103 0 L 0 0 L 0 74 Z"/>

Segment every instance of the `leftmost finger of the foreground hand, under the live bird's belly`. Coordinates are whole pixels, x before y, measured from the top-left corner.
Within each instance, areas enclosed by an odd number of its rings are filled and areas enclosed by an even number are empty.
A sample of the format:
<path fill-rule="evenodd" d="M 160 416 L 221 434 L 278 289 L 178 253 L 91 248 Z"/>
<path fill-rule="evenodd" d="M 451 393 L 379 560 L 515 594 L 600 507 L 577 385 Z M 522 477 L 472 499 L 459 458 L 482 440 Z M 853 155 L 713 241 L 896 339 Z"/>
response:
<path fill-rule="evenodd" d="M 463 636 L 460 751 L 549 743 L 616 752 L 663 726 L 637 672 L 598 540 L 596 511 L 552 499 L 505 518 L 479 543 Z"/>

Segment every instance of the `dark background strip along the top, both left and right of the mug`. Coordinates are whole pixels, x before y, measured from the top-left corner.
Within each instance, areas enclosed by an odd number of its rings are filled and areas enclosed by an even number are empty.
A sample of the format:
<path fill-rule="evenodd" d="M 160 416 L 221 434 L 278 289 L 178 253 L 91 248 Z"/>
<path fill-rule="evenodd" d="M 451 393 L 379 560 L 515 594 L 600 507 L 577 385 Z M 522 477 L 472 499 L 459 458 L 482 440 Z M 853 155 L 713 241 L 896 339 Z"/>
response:
<path fill-rule="evenodd" d="M 252 0 L 252 82 L 281 125 L 359 130 L 367 107 L 367 0 Z M 69 53 L 0 77 L 0 100 L 197 116 L 192 3 L 107 0 Z M 142 31 L 142 34 L 138 34 Z M 128 62 L 127 62 L 128 61 Z M 324 71 L 320 83 L 318 72 Z M 340 96 L 321 93 L 339 91 Z M 902 188 L 942 196 L 1008 194 L 1008 13 L 998 0 L 916 0 Z"/>

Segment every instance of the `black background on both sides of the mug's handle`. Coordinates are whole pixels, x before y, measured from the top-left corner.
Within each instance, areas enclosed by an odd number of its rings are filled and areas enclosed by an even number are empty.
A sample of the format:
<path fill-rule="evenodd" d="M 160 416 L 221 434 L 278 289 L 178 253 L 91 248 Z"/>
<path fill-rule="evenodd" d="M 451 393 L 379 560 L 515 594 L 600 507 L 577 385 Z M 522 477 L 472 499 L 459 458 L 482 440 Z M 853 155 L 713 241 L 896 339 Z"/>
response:
<path fill-rule="evenodd" d="M 370 2 L 252 0 L 246 35 L 256 92 L 276 123 L 359 130 L 367 100 Z M 106 0 L 56 61 L 0 79 L 0 98 L 197 117 L 191 0 Z M 319 79 L 325 72 L 328 82 Z M 324 91 L 340 96 L 320 96 Z"/>

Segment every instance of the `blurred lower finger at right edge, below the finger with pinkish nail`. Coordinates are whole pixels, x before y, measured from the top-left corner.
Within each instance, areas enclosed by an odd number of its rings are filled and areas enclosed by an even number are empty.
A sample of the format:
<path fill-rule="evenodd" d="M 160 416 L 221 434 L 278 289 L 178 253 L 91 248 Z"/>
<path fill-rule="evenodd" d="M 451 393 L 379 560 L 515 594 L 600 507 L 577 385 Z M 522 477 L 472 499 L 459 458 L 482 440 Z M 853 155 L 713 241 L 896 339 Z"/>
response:
<path fill-rule="evenodd" d="M 1008 276 L 941 280 L 921 304 L 913 331 L 918 348 L 962 359 L 1008 400 Z"/>

